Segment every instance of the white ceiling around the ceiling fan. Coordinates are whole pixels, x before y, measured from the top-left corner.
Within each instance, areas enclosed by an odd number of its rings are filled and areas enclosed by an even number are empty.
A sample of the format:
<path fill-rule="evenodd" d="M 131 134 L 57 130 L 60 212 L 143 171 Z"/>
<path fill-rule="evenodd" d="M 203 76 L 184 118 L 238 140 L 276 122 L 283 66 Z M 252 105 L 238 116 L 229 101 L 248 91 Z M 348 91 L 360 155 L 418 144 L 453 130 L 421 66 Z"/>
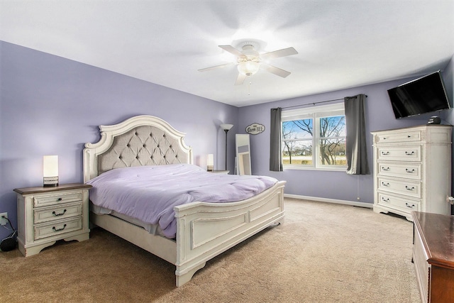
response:
<path fill-rule="evenodd" d="M 0 40 L 233 106 L 302 97 L 443 70 L 454 54 L 454 0 L 0 0 Z M 297 55 L 234 85 L 218 45 L 253 40 Z"/>

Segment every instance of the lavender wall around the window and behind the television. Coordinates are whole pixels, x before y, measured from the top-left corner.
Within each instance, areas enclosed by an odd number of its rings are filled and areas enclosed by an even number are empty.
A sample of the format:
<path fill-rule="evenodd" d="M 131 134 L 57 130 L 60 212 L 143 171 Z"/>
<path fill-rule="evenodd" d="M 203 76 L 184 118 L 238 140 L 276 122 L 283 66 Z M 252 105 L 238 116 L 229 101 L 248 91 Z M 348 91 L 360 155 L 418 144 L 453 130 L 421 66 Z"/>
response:
<path fill-rule="evenodd" d="M 450 65 L 448 65 L 446 69 L 447 75 L 445 77 L 445 82 L 448 82 L 447 87 L 451 87 L 451 90 L 453 87 L 452 66 L 453 63 L 451 60 Z M 261 123 L 265 125 L 265 132 L 251 136 L 250 138 L 253 174 L 271 175 L 279 180 L 287 180 L 287 185 L 285 187 L 286 194 L 373 203 L 372 174 L 354 176 L 347 175 L 345 172 L 316 170 L 284 170 L 284 172 L 270 172 L 270 109 L 278 106 L 285 107 L 299 104 L 311 104 L 318 101 L 343 99 L 343 97 L 354 96 L 356 94 L 367 94 L 365 112 L 367 133 L 370 133 L 370 131 L 426 124 L 432 114 L 405 119 L 394 118 L 392 107 L 389 104 L 387 96 L 387 89 L 396 87 L 409 80 L 411 79 L 401 79 L 399 81 L 343 89 L 337 92 L 328 92 L 309 97 L 287 99 L 241 108 L 240 123 L 238 125 L 240 133 L 245 133 L 245 127 L 250 123 Z M 440 114 L 445 120 L 443 123 L 453 124 L 452 110 L 444 111 Z M 367 146 L 368 160 L 372 172 L 372 135 L 367 136 Z"/>

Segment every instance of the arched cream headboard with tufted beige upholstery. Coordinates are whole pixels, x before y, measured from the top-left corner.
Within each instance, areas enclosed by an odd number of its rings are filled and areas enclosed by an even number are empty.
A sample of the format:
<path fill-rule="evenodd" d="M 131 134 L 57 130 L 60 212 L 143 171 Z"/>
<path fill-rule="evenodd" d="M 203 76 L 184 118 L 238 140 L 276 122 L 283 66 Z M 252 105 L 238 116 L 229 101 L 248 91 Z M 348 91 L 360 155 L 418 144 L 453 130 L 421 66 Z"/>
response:
<path fill-rule="evenodd" d="M 185 133 L 157 117 L 135 116 L 99 129 L 101 139 L 85 144 L 84 182 L 119 167 L 192 163 Z"/>

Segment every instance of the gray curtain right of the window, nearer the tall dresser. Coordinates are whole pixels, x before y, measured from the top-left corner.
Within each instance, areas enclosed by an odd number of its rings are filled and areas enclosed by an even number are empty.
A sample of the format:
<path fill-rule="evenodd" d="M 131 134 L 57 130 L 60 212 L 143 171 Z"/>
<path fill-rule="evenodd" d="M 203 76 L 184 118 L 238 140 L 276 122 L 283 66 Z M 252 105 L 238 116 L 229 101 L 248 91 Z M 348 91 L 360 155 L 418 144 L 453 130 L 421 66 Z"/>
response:
<path fill-rule="evenodd" d="M 350 175 L 369 175 L 365 128 L 365 94 L 345 97 L 345 123 L 347 123 L 346 155 L 347 173 Z"/>

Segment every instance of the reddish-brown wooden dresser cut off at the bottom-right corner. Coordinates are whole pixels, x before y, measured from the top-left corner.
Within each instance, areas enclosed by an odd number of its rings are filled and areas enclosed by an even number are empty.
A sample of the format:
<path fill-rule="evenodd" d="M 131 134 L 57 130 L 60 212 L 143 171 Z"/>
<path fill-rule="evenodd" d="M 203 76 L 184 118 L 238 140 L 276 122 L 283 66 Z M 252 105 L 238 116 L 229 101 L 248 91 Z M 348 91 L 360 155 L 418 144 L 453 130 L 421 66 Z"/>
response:
<path fill-rule="evenodd" d="M 414 221 L 413 262 L 423 302 L 454 302 L 454 216 L 420 211 Z"/>

